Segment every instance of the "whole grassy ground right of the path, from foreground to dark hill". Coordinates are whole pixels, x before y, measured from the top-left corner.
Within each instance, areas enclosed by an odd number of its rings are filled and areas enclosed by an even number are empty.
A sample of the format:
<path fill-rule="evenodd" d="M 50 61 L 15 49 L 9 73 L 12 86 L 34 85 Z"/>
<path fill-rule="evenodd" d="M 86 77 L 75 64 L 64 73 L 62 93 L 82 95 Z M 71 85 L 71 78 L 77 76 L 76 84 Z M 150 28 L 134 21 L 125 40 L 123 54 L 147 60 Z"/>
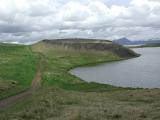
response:
<path fill-rule="evenodd" d="M 32 98 L 1 111 L 0 118 L 159 120 L 159 89 L 124 89 L 86 83 L 67 72 L 82 64 L 119 60 L 119 56 L 110 52 L 66 50 L 43 43 L 33 46 L 33 50 L 41 52 L 46 59 L 43 87 Z"/>

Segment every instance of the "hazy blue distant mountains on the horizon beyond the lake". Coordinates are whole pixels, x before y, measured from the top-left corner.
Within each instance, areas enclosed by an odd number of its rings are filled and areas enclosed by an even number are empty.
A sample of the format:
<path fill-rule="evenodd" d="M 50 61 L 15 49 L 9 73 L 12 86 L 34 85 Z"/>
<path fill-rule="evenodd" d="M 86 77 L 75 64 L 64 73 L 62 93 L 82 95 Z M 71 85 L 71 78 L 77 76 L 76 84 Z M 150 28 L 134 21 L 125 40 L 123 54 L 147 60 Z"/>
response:
<path fill-rule="evenodd" d="M 148 45 L 148 44 L 159 44 L 160 39 L 149 39 L 149 40 L 137 40 L 137 41 L 131 41 L 127 38 L 120 38 L 113 41 L 114 43 L 120 44 L 120 45 Z"/>

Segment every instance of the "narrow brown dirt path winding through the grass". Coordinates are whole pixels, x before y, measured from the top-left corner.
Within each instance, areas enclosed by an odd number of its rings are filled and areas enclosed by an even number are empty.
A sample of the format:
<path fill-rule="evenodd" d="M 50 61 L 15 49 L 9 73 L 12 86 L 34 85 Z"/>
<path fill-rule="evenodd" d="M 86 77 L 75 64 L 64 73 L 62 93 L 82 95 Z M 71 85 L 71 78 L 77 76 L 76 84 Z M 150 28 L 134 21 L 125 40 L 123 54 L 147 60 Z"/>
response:
<path fill-rule="evenodd" d="M 19 100 L 26 98 L 27 96 L 31 95 L 38 87 L 40 87 L 40 80 L 41 80 L 41 72 L 43 70 L 43 64 L 44 64 L 44 59 L 41 56 L 41 60 L 39 63 L 38 70 L 34 76 L 34 79 L 32 80 L 31 88 L 28 91 L 25 91 L 23 93 L 8 97 L 6 99 L 0 100 L 0 109 L 18 102 Z"/>

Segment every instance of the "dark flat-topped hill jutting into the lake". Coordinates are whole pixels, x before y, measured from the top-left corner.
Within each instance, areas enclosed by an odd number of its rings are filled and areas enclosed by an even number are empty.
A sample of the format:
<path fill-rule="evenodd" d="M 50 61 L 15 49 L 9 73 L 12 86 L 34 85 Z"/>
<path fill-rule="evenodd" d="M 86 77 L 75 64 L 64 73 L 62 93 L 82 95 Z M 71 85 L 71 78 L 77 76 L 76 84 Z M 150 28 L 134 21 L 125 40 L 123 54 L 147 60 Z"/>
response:
<path fill-rule="evenodd" d="M 122 45 L 113 43 L 109 40 L 98 39 L 55 39 L 55 40 L 42 40 L 43 43 L 61 45 L 65 49 L 74 50 L 96 50 L 96 51 L 109 51 L 117 54 L 120 57 L 136 57 L 138 54 L 132 50 L 123 47 Z"/>

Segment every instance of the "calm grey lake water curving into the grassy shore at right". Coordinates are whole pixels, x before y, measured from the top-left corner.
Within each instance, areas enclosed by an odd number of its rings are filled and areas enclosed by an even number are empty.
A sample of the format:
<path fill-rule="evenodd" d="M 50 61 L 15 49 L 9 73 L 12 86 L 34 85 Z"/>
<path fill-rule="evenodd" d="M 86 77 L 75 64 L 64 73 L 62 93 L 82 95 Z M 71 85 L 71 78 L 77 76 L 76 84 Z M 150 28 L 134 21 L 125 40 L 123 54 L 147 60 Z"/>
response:
<path fill-rule="evenodd" d="M 160 48 L 133 50 L 141 56 L 92 67 L 75 68 L 70 73 L 88 82 L 121 87 L 160 88 Z"/>

